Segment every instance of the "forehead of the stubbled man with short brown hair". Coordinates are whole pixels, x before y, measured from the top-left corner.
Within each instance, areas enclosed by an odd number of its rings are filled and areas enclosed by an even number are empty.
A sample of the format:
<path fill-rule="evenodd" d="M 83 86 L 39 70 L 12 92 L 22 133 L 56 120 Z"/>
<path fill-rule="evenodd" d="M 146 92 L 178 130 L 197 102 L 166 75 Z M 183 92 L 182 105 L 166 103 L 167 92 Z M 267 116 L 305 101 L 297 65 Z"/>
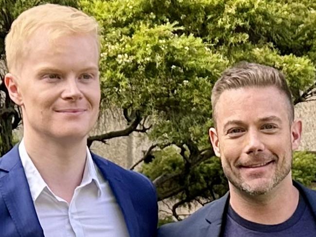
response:
<path fill-rule="evenodd" d="M 216 124 L 228 121 L 251 123 L 267 117 L 288 121 L 289 106 L 283 92 L 275 87 L 249 87 L 224 91 L 216 104 Z"/>

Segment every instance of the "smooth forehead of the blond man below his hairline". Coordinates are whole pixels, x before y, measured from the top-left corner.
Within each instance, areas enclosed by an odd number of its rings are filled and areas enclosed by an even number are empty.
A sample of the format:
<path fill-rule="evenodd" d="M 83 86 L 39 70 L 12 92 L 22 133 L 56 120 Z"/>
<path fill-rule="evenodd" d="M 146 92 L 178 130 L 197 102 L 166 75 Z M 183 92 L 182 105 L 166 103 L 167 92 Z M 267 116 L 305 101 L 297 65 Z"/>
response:
<path fill-rule="evenodd" d="M 21 72 L 26 67 L 33 71 L 43 67 L 79 70 L 98 67 L 97 41 L 88 34 L 53 37 L 50 31 L 37 30 L 28 40 Z"/>

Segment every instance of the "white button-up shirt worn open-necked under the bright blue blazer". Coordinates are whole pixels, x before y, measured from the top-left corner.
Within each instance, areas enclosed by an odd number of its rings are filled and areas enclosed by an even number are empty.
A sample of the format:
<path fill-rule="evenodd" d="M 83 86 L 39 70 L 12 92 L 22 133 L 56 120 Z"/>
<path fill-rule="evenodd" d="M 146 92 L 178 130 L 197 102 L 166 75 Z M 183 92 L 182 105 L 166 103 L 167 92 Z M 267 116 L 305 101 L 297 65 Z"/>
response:
<path fill-rule="evenodd" d="M 56 196 L 43 180 L 23 140 L 18 150 L 45 237 L 129 236 L 121 208 L 93 163 L 88 147 L 82 182 L 74 190 L 70 203 Z"/>

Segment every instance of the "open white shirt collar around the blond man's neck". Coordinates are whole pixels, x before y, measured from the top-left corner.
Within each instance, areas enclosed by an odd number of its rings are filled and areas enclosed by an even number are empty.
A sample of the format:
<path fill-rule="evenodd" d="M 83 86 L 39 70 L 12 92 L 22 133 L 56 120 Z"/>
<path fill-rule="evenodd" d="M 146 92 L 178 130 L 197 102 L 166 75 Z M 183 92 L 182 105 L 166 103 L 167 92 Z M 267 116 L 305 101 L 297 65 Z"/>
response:
<path fill-rule="evenodd" d="M 24 168 L 27 182 L 29 183 L 32 199 L 33 201 L 35 201 L 45 187 L 47 187 L 49 190 L 50 188 L 48 187 L 47 183 L 43 180 L 42 176 L 40 175 L 37 168 L 35 167 L 32 159 L 28 155 L 25 145 L 24 145 L 24 139 L 22 139 L 22 141 L 20 142 L 18 146 L 18 152 L 20 155 L 21 163 Z M 88 185 L 90 182 L 94 181 L 96 186 L 98 187 L 98 196 L 100 196 L 101 185 L 100 185 L 99 178 L 97 176 L 96 169 L 97 167 L 95 166 L 92 160 L 91 153 L 87 146 L 87 159 L 86 159 L 82 181 L 79 186 L 85 186 L 85 185 Z"/>

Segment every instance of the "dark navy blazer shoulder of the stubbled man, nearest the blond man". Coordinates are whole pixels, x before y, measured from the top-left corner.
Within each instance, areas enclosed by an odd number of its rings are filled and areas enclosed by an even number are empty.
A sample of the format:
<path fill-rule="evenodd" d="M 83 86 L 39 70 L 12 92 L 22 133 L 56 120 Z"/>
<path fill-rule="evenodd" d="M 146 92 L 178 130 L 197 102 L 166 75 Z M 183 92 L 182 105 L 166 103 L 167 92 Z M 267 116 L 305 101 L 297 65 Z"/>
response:
<path fill-rule="evenodd" d="M 158 229 L 158 237 L 202 237 L 212 223 L 220 229 L 228 194 L 201 207 L 188 218 L 165 224 Z"/>

